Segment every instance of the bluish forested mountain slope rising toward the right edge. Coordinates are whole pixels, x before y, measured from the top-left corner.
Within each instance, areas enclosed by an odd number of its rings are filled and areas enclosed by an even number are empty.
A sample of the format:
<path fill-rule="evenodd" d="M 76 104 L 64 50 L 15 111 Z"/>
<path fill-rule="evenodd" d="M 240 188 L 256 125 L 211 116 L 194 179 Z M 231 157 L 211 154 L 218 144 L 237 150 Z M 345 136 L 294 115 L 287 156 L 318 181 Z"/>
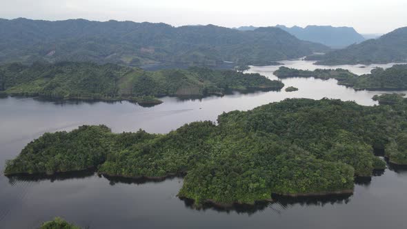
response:
<path fill-rule="evenodd" d="M 407 62 L 407 27 L 307 60 L 317 60 L 316 64 L 320 65 Z"/>

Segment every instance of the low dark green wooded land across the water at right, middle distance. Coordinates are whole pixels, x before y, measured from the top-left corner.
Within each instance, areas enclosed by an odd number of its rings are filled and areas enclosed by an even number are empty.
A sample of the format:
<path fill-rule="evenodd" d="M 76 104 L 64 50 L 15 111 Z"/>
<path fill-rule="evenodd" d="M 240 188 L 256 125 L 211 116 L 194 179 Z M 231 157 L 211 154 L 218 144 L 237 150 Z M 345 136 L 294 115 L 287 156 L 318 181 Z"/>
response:
<path fill-rule="evenodd" d="M 348 70 L 317 69 L 297 70 L 284 66 L 274 74 L 281 78 L 288 77 L 314 77 L 317 79 L 337 79 L 339 85 L 350 86 L 355 90 L 406 90 L 407 89 L 407 64 L 396 64 L 391 68 L 375 68 L 370 74 L 358 76 Z"/>

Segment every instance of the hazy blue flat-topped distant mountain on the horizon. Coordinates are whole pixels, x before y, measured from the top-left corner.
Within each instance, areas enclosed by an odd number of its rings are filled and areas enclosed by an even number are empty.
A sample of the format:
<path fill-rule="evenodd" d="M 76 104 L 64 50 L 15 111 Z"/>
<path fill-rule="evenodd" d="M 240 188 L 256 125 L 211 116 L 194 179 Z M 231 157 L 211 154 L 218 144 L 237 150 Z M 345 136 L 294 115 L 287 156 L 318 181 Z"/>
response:
<path fill-rule="evenodd" d="M 293 26 L 288 28 L 281 25 L 276 27 L 286 30 L 298 39 L 322 43 L 331 48 L 344 48 L 365 40 L 361 34 L 351 27 L 306 26 L 306 28 L 301 28 Z"/>

